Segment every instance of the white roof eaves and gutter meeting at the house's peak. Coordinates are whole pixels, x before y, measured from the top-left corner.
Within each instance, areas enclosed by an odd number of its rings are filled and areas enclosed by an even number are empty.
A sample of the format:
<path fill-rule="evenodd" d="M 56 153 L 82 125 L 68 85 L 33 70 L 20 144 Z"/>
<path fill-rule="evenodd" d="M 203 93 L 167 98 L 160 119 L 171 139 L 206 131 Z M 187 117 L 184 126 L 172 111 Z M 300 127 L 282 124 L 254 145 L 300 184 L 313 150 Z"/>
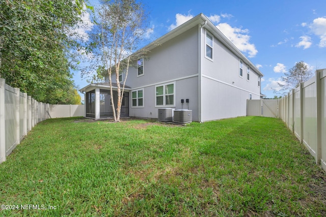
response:
<path fill-rule="evenodd" d="M 163 44 L 177 37 L 178 35 L 186 32 L 188 29 L 191 29 L 198 25 L 202 25 L 203 27 L 205 27 L 211 34 L 213 34 L 215 38 L 221 41 L 229 50 L 231 50 L 235 55 L 241 58 L 242 61 L 249 65 L 256 73 L 258 73 L 261 77 L 264 76 L 260 72 L 260 70 L 203 13 L 200 13 L 192 19 L 179 25 L 178 27 L 171 30 L 169 33 L 156 39 L 155 41 L 151 42 L 140 50 L 152 50 L 160 44 Z M 137 52 L 139 51 L 136 51 L 135 53 Z"/>

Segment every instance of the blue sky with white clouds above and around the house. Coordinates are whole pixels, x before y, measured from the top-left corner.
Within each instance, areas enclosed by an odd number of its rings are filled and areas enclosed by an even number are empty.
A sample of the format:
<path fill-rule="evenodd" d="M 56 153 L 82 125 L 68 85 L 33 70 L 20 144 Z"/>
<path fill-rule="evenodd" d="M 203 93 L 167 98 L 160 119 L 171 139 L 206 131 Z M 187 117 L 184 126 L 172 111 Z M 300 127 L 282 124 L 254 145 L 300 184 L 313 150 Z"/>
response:
<path fill-rule="evenodd" d="M 149 13 L 146 44 L 203 13 L 264 74 L 261 92 L 268 98 L 276 95 L 272 89 L 278 89 L 277 82 L 296 62 L 304 61 L 313 72 L 326 68 L 325 0 L 142 2 Z M 87 22 L 88 14 L 83 19 Z M 89 24 L 82 32 L 91 29 Z M 78 71 L 73 79 L 80 88 L 88 85 Z"/>

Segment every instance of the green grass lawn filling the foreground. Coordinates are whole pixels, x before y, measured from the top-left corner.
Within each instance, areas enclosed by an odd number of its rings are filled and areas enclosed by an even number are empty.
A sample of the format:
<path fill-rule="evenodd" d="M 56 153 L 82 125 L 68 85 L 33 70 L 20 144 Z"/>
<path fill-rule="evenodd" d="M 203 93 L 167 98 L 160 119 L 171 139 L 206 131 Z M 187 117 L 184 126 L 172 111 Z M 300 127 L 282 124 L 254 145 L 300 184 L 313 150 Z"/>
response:
<path fill-rule="evenodd" d="M 48 119 L 0 174 L 5 216 L 326 216 L 325 173 L 275 118 Z"/>

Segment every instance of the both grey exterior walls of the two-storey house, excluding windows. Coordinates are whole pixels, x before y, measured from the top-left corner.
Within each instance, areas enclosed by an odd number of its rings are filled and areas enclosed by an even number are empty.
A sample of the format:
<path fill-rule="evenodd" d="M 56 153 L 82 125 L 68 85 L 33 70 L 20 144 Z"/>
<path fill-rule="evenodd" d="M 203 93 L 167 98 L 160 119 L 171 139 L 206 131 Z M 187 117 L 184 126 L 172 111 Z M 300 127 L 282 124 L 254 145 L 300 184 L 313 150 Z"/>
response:
<path fill-rule="evenodd" d="M 151 48 L 143 60 L 143 75 L 138 75 L 137 61 L 130 64 L 126 81 L 131 88 L 129 116 L 158 118 L 159 108 L 183 108 L 193 110 L 194 121 L 208 121 L 246 116 L 247 100 L 260 99 L 262 74 L 259 70 L 212 23 L 194 22 L 196 25 L 184 32 L 182 28 L 186 25 L 177 27 L 180 34 L 173 30 L 167 34 L 168 39 L 162 37 L 167 39 L 164 43 Z M 213 38 L 212 59 L 205 57 L 206 32 Z M 239 76 L 240 59 L 243 61 L 242 77 Z M 249 80 L 248 66 L 251 66 Z M 158 107 L 155 86 L 168 83 L 174 83 L 174 105 Z M 132 106 L 132 92 L 138 90 L 143 94 L 142 106 Z M 188 104 L 186 99 L 189 99 Z"/>

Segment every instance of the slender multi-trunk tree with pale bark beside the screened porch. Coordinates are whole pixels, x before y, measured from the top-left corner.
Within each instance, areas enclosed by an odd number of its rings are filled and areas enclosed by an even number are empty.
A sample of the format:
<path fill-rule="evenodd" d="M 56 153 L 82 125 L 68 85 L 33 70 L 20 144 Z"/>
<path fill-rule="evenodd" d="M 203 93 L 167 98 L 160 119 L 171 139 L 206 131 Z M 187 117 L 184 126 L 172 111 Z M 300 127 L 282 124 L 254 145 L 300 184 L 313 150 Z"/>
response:
<path fill-rule="evenodd" d="M 92 54 L 96 61 L 93 69 L 101 75 L 102 70 L 110 82 L 111 105 L 114 120 L 120 121 L 122 93 L 131 61 L 144 55 L 143 50 L 134 53 L 146 30 L 146 14 L 141 3 L 135 0 L 104 1 L 97 13 L 97 27 L 91 34 Z M 133 54 L 131 54 L 133 53 Z M 101 64 L 101 65 L 99 65 Z M 125 74 L 120 85 L 119 73 Z M 112 75 L 117 84 L 117 105 L 114 102 Z M 98 76 L 97 76 L 98 77 Z"/>

